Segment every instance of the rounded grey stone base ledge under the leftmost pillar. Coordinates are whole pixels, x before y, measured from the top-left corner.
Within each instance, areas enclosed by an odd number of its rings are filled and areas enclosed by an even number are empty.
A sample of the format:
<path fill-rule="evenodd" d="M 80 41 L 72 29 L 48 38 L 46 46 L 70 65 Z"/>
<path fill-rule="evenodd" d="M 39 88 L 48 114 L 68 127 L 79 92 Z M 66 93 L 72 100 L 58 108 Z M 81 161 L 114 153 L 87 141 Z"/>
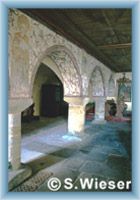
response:
<path fill-rule="evenodd" d="M 23 166 L 23 168 L 18 170 L 10 170 L 8 174 L 8 188 L 9 191 L 13 190 L 27 178 L 32 175 L 32 170 L 28 166 Z"/>

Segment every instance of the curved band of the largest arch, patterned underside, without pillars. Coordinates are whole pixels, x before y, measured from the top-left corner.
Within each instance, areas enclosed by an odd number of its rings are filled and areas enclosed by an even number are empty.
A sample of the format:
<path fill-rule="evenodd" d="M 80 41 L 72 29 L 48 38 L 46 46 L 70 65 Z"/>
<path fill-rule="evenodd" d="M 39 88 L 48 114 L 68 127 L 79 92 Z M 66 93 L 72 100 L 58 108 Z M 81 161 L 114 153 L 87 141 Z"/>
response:
<path fill-rule="evenodd" d="M 76 59 L 71 51 L 62 45 L 54 45 L 47 48 L 38 58 L 31 75 L 30 94 L 32 94 L 33 83 L 39 64 L 45 59 L 46 56 L 48 56 L 55 63 L 58 71 L 60 72 L 58 77 L 63 83 L 64 96 L 81 96 L 81 78 Z M 50 68 L 54 71 L 52 67 Z M 56 71 L 54 72 L 56 73 Z"/>

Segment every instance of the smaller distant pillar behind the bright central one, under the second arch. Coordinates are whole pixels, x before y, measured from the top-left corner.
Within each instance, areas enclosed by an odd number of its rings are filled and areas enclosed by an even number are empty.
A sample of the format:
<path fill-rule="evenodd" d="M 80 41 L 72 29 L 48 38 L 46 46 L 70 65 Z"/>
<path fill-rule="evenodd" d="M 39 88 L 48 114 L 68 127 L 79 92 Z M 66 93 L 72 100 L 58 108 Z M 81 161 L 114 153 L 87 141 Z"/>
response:
<path fill-rule="evenodd" d="M 105 97 L 94 97 L 95 101 L 95 120 L 105 120 Z"/>

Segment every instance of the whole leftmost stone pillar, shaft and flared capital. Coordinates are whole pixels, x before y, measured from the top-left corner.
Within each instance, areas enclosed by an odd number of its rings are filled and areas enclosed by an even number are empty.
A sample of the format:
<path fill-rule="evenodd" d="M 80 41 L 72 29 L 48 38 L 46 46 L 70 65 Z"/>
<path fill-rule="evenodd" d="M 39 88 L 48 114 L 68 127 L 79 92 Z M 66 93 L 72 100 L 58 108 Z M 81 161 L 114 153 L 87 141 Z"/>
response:
<path fill-rule="evenodd" d="M 32 104 L 30 98 L 9 99 L 8 161 L 12 170 L 20 168 L 21 112 Z"/>

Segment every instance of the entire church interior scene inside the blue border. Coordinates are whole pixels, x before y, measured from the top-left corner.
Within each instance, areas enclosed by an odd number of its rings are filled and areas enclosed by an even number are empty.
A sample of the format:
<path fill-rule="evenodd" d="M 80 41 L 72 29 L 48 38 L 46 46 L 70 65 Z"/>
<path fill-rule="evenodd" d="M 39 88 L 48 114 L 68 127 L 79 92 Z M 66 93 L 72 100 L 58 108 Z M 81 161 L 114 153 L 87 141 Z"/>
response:
<path fill-rule="evenodd" d="M 132 180 L 131 21 L 124 8 L 9 9 L 10 192 Z"/>

